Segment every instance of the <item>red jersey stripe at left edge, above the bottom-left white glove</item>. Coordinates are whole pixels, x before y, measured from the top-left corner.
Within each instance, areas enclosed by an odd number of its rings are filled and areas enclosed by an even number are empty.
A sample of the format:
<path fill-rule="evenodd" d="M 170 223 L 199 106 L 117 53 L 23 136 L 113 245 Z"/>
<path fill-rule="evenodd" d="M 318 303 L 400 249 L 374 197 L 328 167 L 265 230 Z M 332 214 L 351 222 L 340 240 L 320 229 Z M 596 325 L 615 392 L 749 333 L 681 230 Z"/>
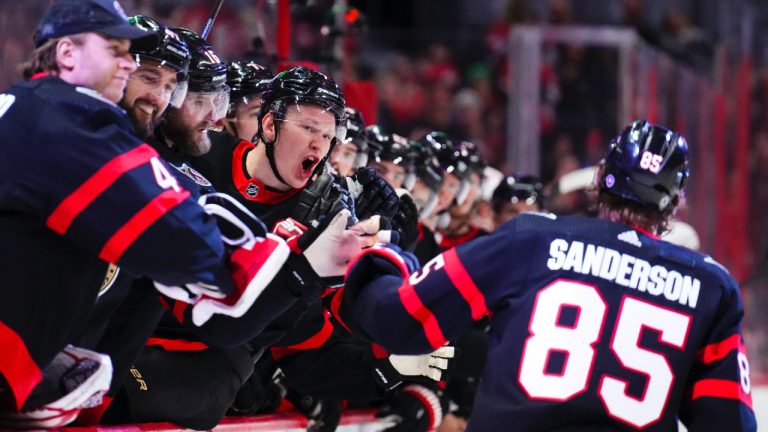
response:
<path fill-rule="evenodd" d="M 29 397 L 32 389 L 43 379 L 43 373 L 32 359 L 24 340 L 12 328 L 0 321 L 0 373 L 11 387 L 16 409 Z"/>

